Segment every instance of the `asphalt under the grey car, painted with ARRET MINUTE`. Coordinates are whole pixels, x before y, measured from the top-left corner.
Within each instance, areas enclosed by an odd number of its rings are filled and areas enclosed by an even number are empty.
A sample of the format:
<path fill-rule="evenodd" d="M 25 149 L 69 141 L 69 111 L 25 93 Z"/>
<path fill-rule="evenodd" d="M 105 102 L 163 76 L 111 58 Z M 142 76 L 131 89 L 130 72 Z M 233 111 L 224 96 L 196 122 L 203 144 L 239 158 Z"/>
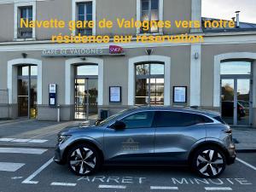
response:
<path fill-rule="evenodd" d="M 0 147 L 0 191 L 256 191 L 256 154 L 238 154 L 221 177 L 197 177 L 188 167 L 103 166 L 90 177 L 73 175 L 52 160 L 53 148 Z"/>

